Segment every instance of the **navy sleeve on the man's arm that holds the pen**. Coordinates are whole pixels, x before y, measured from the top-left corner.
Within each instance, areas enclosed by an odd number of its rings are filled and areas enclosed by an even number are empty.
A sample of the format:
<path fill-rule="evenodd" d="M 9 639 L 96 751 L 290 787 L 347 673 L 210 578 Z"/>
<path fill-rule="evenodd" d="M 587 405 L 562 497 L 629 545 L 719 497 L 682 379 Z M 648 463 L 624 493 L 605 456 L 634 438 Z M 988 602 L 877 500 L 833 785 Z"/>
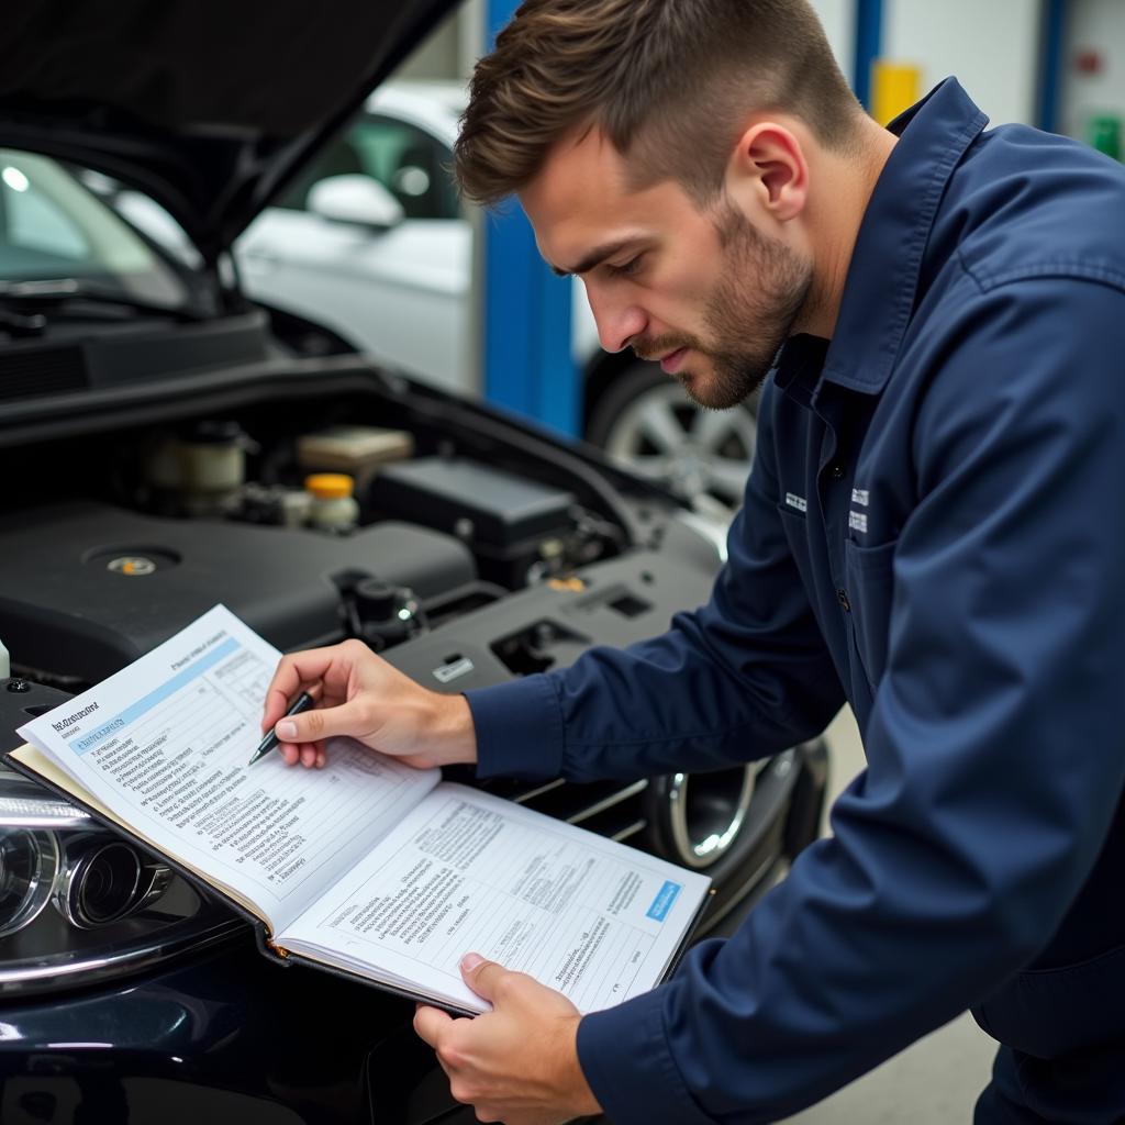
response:
<path fill-rule="evenodd" d="M 768 403 L 767 393 L 759 456 L 708 604 L 654 640 L 466 692 L 479 776 L 717 768 L 778 753 L 839 710 L 843 690 L 780 525 Z"/>

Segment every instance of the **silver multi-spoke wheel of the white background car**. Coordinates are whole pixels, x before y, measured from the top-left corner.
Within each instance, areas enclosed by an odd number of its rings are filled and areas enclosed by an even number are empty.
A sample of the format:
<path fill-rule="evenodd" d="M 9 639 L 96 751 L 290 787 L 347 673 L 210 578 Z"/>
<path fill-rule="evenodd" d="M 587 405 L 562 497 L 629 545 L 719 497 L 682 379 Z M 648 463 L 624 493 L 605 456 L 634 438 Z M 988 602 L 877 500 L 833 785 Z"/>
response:
<path fill-rule="evenodd" d="M 741 504 L 757 441 L 757 397 L 709 411 L 656 363 L 616 376 L 591 414 L 587 436 L 614 460 L 667 485 L 698 508 Z"/>

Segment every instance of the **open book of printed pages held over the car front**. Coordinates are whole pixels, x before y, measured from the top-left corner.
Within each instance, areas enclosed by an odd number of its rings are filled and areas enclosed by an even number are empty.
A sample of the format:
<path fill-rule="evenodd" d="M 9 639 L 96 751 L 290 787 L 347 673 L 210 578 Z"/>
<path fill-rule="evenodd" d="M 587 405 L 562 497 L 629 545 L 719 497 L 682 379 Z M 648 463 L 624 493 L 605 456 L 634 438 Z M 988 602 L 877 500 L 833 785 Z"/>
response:
<path fill-rule="evenodd" d="M 252 766 L 280 654 L 223 606 L 20 728 L 12 764 L 256 920 L 262 948 L 461 1011 L 470 951 L 592 1011 L 669 970 L 709 880 L 333 739 Z"/>

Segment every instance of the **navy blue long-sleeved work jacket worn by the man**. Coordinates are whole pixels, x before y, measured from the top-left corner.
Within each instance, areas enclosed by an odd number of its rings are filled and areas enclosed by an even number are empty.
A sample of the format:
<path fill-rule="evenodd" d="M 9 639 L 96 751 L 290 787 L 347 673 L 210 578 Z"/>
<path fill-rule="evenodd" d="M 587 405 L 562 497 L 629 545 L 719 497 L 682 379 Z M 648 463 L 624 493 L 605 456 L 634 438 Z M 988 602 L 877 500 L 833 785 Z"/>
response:
<path fill-rule="evenodd" d="M 764 388 L 711 601 L 468 693 L 482 774 L 575 781 L 858 719 L 832 835 L 583 1019 L 618 1125 L 775 1120 L 971 1005 L 1038 1058 L 1125 1044 L 1125 171 L 986 124 L 947 80 L 892 126 L 831 343 Z"/>

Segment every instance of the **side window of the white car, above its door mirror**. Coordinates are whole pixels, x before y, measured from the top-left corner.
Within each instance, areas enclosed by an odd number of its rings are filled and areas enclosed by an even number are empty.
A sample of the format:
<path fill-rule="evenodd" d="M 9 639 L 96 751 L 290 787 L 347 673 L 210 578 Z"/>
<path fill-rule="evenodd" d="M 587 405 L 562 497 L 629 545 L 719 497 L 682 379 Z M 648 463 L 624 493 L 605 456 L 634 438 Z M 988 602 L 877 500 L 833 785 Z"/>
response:
<path fill-rule="evenodd" d="M 451 165 L 450 151 L 425 130 L 366 116 L 322 152 L 278 206 L 305 210 L 314 183 L 358 173 L 378 180 L 402 204 L 406 218 L 460 218 Z"/>

